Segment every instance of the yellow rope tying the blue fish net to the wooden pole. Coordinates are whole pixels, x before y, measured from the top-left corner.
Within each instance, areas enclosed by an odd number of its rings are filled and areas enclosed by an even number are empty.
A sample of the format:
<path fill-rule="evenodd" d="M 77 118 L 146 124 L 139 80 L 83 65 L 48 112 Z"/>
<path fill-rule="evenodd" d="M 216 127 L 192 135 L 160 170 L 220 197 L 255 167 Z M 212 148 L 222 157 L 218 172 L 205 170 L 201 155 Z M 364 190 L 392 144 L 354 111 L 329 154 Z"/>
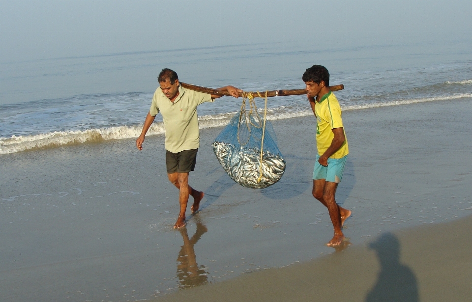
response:
<path fill-rule="evenodd" d="M 259 91 L 256 91 L 257 95 L 260 98 L 263 98 L 261 93 Z M 253 92 L 242 92 L 242 104 L 241 104 L 241 110 L 239 113 L 239 122 L 237 123 L 237 141 L 241 146 L 246 145 L 249 142 L 249 139 L 251 137 L 251 127 L 249 127 L 247 124 L 249 123 L 250 125 L 256 127 L 256 128 L 261 128 L 262 127 L 262 138 L 261 138 L 261 155 L 259 158 L 259 178 L 257 182 L 261 182 L 262 179 L 262 160 L 263 160 L 263 155 L 264 155 L 264 135 L 266 132 L 266 116 L 267 116 L 267 91 L 265 95 L 265 103 L 264 103 L 264 122 L 261 121 L 261 116 L 259 115 L 259 112 L 257 111 L 256 107 L 256 102 L 254 101 L 254 93 Z M 246 114 L 246 100 L 248 100 L 249 103 L 249 112 Z M 257 124 L 253 123 L 251 120 L 251 115 L 255 113 L 255 116 L 257 117 Z M 249 135 L 247 137 L 247 141 L 245 143 L 241 143 L 241 140 L 239 139 L 239 125 L 241 124 L 241 120 L 244 116 L 244 122 L 246 123 L 246 127 L 248 129 Z"/>

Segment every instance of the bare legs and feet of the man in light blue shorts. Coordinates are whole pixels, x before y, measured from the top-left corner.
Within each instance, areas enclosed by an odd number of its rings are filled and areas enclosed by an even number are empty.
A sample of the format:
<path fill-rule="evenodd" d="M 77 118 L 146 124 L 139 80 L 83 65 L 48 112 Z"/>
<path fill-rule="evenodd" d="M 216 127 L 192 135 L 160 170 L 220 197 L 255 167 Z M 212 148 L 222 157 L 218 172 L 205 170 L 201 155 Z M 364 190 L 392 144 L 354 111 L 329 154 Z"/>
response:
<path fill-rule="evenodd" d="M 337 205 L 334 199 L 337 187 L 338 183 L 325 181 L 324 179 L 313 180 L 313 196 L 328 209 L 334 227 L 334 236 L 327 243 L 328 247 L 339 246 L 343 242 L 342 224 L 351 215 L 351 211 Z"/>

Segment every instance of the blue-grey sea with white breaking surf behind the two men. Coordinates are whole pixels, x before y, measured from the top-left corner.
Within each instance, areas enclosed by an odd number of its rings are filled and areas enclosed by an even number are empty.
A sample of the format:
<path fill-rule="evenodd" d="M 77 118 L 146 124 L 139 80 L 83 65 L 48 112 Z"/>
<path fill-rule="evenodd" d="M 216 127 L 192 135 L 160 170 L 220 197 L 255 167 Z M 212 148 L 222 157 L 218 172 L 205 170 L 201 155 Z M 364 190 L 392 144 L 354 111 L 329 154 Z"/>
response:
<path fill-rule="evenodd" d="M 304 88 L 305 69 L 321 64 L 331 85 L 345 85 L 335 92 L 343 110 L 471 97 L 472 42 L 451 43 L 277 42 L 2 63 L 0 155 L 138 137 L 165 67 L 181 82 L 264 92 Z M 200 128 L 226 125 L 240 106 L 230 97 L 202 104 Z M 269 120 L 313 114 L 304 95 L 269 98 L 267 110 Z M 148 135 L 164 133 L 159 114 Z"/>

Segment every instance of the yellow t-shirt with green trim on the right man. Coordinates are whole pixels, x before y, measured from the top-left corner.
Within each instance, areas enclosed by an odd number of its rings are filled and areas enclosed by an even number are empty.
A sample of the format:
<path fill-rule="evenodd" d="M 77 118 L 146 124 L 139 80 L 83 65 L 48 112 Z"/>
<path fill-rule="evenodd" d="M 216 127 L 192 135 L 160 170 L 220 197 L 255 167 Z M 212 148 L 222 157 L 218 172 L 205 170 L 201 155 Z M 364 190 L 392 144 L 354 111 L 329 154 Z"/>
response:
<path fill-rule="evenodd" d="M 334 138 L 333 129 L 343 127 L 343 120 L 341 118 L 341 106 L 339 106 L 338 99 L 331 91 L 326 93 L 321 100 L 315 103 L 316 114 L 316 146 L 318 148 L 318 155 L 322 156 L 329 148 Z M 343 127 L 344 131 L 344 127 Z M 346 137 L 346 132 L 344 132 Z M 341 145 L 341 147 L 329 158 L 342 158 L 349 153 L 348 138 Z"/>

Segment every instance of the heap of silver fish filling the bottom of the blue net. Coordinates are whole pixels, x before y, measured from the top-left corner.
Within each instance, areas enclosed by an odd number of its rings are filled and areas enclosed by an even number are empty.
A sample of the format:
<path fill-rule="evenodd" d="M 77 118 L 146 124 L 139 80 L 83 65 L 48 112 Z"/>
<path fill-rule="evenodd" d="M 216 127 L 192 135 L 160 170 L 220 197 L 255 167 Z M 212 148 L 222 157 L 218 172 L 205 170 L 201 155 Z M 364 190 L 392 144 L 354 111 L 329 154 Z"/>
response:
<path fill-rule="evenodd" d="M 211 146 L 226 173 L 243 187 L 267 188 L 278 182 L 285 172 L 286 162 L 279 154 L 266 151 L 261 163 L 261 150 L 257 148 L 236 148 L 232 144 L 218 141 Z M 261 181 L 258 182 L 260 176 Z"/>

